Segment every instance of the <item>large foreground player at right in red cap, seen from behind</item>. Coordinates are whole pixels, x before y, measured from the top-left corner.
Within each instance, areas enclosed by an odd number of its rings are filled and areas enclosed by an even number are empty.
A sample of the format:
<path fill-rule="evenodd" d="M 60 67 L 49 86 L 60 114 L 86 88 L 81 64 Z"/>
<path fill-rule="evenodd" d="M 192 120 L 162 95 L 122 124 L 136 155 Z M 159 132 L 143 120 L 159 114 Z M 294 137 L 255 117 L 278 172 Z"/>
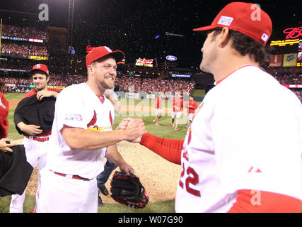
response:
<path fill-rule="evenodd" d="M 255 10 L 261 20 L 252 20 Z M 214 74 L 216 87 L 185 140 L 149 133 L 137 140 L 181 165 L 175 211 L 300 213 L 301 102 L 259 67 L 271 19 L 257 5 L 233 2 L 194 31 L 209 31 L 200 68 Z"/>

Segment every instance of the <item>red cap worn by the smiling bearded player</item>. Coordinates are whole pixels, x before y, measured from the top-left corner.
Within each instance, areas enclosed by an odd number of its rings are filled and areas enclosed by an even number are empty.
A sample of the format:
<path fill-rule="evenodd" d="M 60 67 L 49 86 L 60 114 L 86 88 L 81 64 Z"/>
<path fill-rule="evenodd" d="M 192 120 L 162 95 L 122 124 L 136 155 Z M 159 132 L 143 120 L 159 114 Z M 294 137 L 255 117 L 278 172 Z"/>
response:
<path fill-rule="evenodd" d="M 124 52 L 120 50 L 112 51 L 106 46 L 100 46 L 93 48 L 91 52 L 88 52 L 88 54 L 86 55 L 86 67 L 88 68 L 88 65 L 91 65 L 91 63 L 95 60 L 108 55 L 112 55 L 112 57 L 114 57 L 117 62 L 120 62 L 124 58 Z"/>

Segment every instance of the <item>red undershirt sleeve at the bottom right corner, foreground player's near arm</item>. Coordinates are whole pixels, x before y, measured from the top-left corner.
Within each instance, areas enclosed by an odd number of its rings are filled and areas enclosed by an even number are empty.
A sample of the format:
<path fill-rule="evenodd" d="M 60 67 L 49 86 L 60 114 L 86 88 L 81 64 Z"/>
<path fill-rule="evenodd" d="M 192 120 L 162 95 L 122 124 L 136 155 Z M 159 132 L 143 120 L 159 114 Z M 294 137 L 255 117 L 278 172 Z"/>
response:
<path fill-rule="evenodd" d="M 239 190 L 228 213 L 301 213 L 301 200 L 284 194 Z"/>

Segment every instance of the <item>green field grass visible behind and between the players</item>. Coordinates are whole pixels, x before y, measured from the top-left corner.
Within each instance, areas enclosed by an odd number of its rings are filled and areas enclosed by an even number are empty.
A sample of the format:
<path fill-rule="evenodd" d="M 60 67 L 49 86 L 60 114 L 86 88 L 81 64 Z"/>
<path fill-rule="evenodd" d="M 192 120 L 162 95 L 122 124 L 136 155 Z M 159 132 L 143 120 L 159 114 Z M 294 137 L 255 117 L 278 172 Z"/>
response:
<path fill-rule="evenodd" d="M 8 100 L 20 100 L 23 94 L 6 94 L 5 97 Z M 120 98 L 120 103 L 123 106 L 135 106 L 134 109 L 127 110 L 124 109 L 120 115 L 115 116 L 115 125 L 114 128 L 118 126 L 118 123 L 122 118 L 142 118 L 146 125 L 146 129 L 149 133 L 157 135 L 162 138 L 173 138 L 173 139 L 183 139 L 185 138 L 185 126 L 187 123 L 187 116 L 184 115 L 180 118 L 179 128 L 180 131 L 171 131 L 171 117 L 170 112 L 166 114 L 159 120 L 162 126 L 158 127 L 153 123 L 155 118 L 154 111 L 151 111 L 151 108 L 155 105 L 154 100 L 149 99 L 122 99 Z M 171 101 L 163 101 L 163 106 L 169 109 L 172 104 Z M 151 111 L 151 112 L 150 112 Z M 9 128 L 8 128 L 8 138 L 13 140 L 23 138 L 23 135 L 18 134 L 16 127 L 13 123 L 13 112 L 14 109 L 10 108 L 8 114 Z M 9 204 L 11 202 L 11 196 L 0 197 L 0 213 L 9 212 Z M 155 201 L 149 202 L 149 204 L 144 209 L 135 209 L 135 213 L 173 213 L 174 209 L 174 200 L 168 201 Z M 25 202 L 23 206 L 24 213 L 30 213 L 30 210 L 35 206 L 35 196 L 26 194 Z M 99 213 L 124 213 L 127 207 L 122 204 L 105 204 L 105 206 L 98 209 Z"/>

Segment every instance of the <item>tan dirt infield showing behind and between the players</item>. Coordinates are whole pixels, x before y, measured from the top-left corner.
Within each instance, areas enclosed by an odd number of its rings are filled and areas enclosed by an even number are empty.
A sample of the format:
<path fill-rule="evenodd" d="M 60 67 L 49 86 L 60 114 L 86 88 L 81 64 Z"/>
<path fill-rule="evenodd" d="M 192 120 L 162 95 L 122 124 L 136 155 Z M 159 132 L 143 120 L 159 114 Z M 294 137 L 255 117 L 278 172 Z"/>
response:
<path fill-rule="evenodd" d="M 9 107 L 11 109 L 16 108 L 18 102 L 19 100 L 10 100 Z M 122 106 L 122 111 L 150 112 L 154 111 L 154 109 L 149 106 Z M 170 109 L 165 109 L 165 111 L 170 111 Z M 18 143 L 22 143 L 22 139 L 18 140 Z M 124 160 L 134 168 L 134 173 L 141 179 L 141 183 L 149 194 L 150 201 L 175 199 L 176 188 L 180 177 L 180 165 L 175 165 L 164 160 L 148 148 L 139 144 L 122 141 L 118 143 L 118 150 L 124 157 Z M 117 168 L 116 170 L 119 169 Z M 112 175 L 113 172 L 110 175 L 110 179 L 112 178 Z M 105 186 L 108 190 L 110 189 L 110 180 L 108 180 Z M 26 193 L 35 195 L 36 190 L 37 167 L 35 167 L 33 174 L 30 177 L 28 187 L 26 187 Z M 102 199 L 105 203 L 115 203 L 110 196 L 102 195 Z"/>

